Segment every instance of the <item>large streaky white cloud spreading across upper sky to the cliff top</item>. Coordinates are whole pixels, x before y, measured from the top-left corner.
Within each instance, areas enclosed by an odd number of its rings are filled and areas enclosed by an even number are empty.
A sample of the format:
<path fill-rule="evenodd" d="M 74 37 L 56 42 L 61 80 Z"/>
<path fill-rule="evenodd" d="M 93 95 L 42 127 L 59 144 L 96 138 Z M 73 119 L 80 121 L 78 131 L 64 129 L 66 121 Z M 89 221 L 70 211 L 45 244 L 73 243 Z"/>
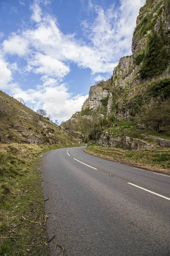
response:
<path fill-rule="evenodd" d="M 92 23 L 82 22 L 86 38 L 83 42 L 75 34 L 63 34 L 54 17 L 42 14 L 40 0 L 35 0 L 31 6 L 31 18 L 38 23 L 37 26 L 11 35 L 3 42 L 3 49 L 24 56 L 28 61 L 28 71 L 32 70 L 31 66 L 40 65 L 34 72 L 42 75 L 54 76 L 51 61 L 57 67 L 55 77 L 64 77 L 70 71 L 65 64 L 68 61 L 78 67 L 90 68 L 92 74 L 111 73 L 119 58 L 130 54 L 136 16 L 143 3 L 144 0 L 121 0 L 119 9 L 112 5 L 104 10 L 89 0 L 88 5 L 97 16 Z M 28 58 L 28 53 L 32 54 L 31 58 Z"/>

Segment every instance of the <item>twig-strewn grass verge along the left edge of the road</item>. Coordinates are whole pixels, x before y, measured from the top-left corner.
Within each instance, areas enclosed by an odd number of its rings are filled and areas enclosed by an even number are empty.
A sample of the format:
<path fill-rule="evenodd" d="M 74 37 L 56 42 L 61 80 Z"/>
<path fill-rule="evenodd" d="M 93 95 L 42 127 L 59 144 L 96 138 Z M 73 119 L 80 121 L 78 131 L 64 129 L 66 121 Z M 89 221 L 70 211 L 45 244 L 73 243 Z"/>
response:
<path fill-rule="evenodd" d="M 69 146 L 0 145 L 0 256 L 49 255 L 38 156 Z"/>

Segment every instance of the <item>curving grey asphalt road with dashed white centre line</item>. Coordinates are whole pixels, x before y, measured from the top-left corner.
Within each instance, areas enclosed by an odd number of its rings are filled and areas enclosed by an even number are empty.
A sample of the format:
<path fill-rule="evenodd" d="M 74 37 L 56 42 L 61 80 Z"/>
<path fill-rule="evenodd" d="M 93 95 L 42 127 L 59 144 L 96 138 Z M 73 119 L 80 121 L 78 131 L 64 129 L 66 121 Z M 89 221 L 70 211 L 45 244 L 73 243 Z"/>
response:
<path fill-rule="evenodd" d="M 42 157 L 51 256 L 170 256 L 170 176 L 83 149 Z"/>

